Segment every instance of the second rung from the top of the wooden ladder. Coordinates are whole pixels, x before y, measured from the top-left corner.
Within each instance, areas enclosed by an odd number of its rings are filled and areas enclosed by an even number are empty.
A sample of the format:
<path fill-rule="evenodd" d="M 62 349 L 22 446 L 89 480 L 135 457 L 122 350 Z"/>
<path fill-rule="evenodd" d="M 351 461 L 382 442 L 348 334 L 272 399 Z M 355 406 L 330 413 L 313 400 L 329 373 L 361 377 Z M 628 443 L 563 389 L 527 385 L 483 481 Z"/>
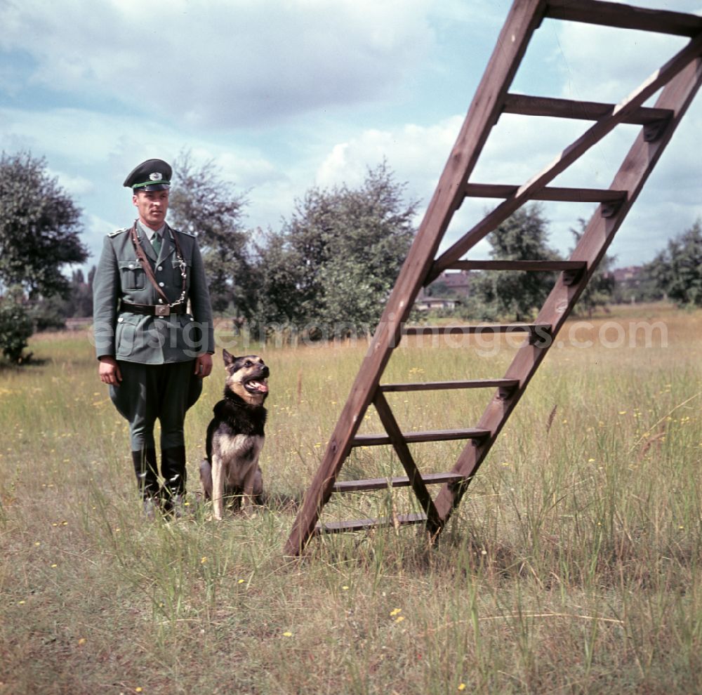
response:
<path fill-rule="evenodd" d="M 599 101 L 575 101 L 529 94 L 508 94 L 505 97 L 503 113 L 599 121 L 603 116 L 609 116 L 615 108 L 614 104 L 604 104 Z M 673 117 L 673 111 L 670 109 L 641 106 L 622 122 L 644 126 L 656 121 L 665 121 L 671 117 Z"/>

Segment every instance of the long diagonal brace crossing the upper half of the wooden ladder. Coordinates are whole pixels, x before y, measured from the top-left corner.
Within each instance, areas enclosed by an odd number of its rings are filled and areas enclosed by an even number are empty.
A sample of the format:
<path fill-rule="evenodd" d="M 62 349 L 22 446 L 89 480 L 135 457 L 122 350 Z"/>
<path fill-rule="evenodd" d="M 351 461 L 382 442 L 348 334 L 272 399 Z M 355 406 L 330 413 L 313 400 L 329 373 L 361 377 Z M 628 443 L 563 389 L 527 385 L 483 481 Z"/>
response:
<path fill-rule="evenodd" d="M 673 56 L 673 58 L 668 60 L 661 69 L 654 72 L 649 79 L 644 81 L 642 86 L 632 95 L 620 102 L 610 116 L 604 117 L 593 126 L 590 126 L 580 138 L 566 147 L 551 164 L 546 166 L 541 172 L 536 174 L 536 176 L 529 179 L 527 183 L 519 187 L 519 190 L 517 190 L 512 197 L 498 205 L 477 223 L 470 232 L 456 241 L 450 249 L 442 253 L 434 263 L 431 272 L 428 274 L 427 281 L 431 282 L 436 279 L 441 272 L 446 270 L 446 267 L 449 267 L 451 263 L 461 258 L 461 256 L 469 251 L 472 246 L 475 246 L 478 241 L 495 230 L 512 213 L 548 185 L 559 173 L 565 171 L 574 161 L 581 157 L 581 155 L 585 154 L 592 145 L 600 142 L 600 140 L 616 128 L 628 114 L 640 107 L 644 101 L 654 95 L 661 87 L 668 84 L 675 75 L 680 73 L 684 67 L 689 65 L 691 60 L 697 58 L 701 53 L 702 34 L 699 34 L 692 39 L 687 46 Z"/>

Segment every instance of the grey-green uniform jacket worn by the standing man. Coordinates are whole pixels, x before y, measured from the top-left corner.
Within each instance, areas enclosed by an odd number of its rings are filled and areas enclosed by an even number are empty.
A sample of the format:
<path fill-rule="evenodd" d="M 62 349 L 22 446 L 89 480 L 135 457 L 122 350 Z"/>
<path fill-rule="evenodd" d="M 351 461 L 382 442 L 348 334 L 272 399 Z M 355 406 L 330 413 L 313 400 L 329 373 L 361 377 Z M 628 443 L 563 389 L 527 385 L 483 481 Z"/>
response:
<path fill-rule="evenodd" d="M 185 300 L 187 314 L 166 317 L 121 312 L 120 300 L 133 304 L 157 305 L 159 294 L 144 272 L 131 240 L 131 227 L 105 237 L 102 256 L 93 280 L 95 352 L 125 362 L 164 364 L 185 362 L 203 352 L 214 352 L 212 312 L 202 258 L 194 234 L 172 230 L 166 225 L 158 258 L 137 225 L 144 253 L 154 276 L 169 302 L 178 300 L 183 288 L 176 245 L 178 234 L 187 269 Z"/>

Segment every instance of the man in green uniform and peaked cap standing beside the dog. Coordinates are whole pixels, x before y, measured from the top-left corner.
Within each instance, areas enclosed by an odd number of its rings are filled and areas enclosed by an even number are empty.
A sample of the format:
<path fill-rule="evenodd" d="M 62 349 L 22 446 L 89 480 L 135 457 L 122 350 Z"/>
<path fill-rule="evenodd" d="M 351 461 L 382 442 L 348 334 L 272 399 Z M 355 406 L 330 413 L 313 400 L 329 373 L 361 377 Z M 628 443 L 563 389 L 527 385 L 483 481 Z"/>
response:
<path fill-rule="evenodd" d="M 124 181 L 138 219 L 105 237 L 93 282 L 95 352 L 110 397 L 129 422 L 144 510 L 180 515 L 185 412 L 212 371 L 212 312 L 194 234 L 166 224 L 171 167 L 148 159 Z M 188 306 L 190 303 L 190 306 Z M 161 423 L 159 487 L 154 424 Z"/>

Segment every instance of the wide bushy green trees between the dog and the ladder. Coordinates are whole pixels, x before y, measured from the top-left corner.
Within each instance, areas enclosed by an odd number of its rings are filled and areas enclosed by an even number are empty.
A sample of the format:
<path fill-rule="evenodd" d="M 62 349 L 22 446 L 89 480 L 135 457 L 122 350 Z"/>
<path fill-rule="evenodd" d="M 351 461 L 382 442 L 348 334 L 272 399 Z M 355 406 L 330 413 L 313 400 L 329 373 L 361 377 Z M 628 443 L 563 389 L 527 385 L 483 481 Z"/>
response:
<path fill-rule="evenodd" d="M 314 188 L 258 245 L 258 319 L 316 324 L 319 338 L 372 332 L 414 234 L 416 203 L 386 164 L 357 189 Z"/>

